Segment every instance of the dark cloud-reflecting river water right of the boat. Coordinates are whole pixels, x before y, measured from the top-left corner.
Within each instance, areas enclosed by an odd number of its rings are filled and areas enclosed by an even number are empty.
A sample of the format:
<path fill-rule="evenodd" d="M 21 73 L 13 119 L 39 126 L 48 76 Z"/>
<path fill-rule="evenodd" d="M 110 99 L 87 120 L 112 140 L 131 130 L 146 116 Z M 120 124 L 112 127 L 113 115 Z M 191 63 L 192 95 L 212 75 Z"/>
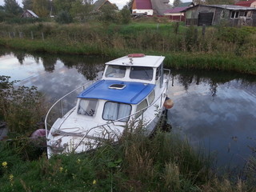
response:
<path fill-rule="evenodd" d="M 216 151 L 218 165 L 243 166 L 256 146 L 256 81 L 219 71 L 174 71 L 170 124 L 200 146 Z M 253 139 L 249 139 L 253 138 Z"/>

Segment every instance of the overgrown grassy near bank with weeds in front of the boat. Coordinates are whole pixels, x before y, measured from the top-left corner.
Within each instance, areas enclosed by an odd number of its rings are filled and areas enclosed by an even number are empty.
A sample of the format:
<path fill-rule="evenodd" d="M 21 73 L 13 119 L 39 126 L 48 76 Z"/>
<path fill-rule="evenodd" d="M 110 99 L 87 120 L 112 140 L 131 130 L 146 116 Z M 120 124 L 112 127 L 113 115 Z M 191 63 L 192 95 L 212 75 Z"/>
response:
<path fill-rule="evenodd" d="M 21 150 L 22 149 L 22 150 Z M 244 174 L 217 177 L 210 159 L 178 135 L 126 134 L 89 154 L 35 157 L 31 142 L 1 142 L 1 191 L 255 191 L 255 159 Z M 26 155 L 25 155 L 26 154 Z M 243 180 L 243 178 L 246 178 Z"/>

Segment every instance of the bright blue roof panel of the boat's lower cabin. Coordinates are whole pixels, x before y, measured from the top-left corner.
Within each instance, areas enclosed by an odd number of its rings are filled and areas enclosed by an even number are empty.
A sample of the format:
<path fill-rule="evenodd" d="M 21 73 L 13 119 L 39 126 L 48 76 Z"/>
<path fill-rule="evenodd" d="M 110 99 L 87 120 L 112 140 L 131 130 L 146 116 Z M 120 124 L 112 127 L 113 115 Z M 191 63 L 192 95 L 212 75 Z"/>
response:
<path fill-rule="evenodd" d="M 111 89 L 111 85 L 124 85 L 122 90 Z M 111 102 L 123 102 L 128 104 L 138 104 L 152 90 L 154 84 L 142 82 L 122 82 L 114 80 L 100 80 L 89 86 L 78 95 L 78 98 L 98 98 Z"/>

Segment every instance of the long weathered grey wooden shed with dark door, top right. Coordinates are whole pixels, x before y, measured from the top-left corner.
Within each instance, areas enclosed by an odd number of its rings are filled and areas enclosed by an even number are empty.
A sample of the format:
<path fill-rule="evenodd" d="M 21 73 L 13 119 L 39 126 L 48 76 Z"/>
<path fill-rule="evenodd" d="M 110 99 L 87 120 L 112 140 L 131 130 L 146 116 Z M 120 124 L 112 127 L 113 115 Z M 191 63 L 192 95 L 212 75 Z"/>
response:
<path fill-rule="evenodd" d="M 197 5 L 184 10 L 186 25 L 256 26 L 256 8 L 234 5 Z"/>

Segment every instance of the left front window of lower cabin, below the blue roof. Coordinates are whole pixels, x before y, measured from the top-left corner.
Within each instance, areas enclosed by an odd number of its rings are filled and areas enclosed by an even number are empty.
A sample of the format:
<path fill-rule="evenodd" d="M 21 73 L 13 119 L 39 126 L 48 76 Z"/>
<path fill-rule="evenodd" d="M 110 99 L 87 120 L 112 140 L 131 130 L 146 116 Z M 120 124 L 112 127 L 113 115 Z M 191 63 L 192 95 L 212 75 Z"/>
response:
<path fill-rule="evenodd" d="M 98 100 L 93 98 L 81 99 L 78 106 L 78 114 L 94 117 Z"/>

